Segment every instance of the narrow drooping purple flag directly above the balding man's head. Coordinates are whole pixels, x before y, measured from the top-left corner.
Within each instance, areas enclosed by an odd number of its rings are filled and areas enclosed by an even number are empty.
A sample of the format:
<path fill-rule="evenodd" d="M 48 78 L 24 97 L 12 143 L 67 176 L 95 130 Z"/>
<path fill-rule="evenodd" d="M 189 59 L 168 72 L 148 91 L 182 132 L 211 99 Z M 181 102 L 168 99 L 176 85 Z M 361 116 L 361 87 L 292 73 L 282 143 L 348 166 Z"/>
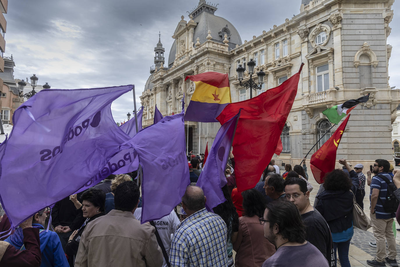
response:
<path fill-rule="evenodd" d="M 239 116 L 240 111 L 236 116 L 225 122 L 218 130 L 207 157 L 207 164 L 204 166 L 196 183 L 204 191 L 204 196 L 207 198 L 206 207 L 209 210 L 212 210 L 226 200 L 221 188 L 226 185 L 226 162 L 228 161 L 230 148 L 232 147 Z"/>

